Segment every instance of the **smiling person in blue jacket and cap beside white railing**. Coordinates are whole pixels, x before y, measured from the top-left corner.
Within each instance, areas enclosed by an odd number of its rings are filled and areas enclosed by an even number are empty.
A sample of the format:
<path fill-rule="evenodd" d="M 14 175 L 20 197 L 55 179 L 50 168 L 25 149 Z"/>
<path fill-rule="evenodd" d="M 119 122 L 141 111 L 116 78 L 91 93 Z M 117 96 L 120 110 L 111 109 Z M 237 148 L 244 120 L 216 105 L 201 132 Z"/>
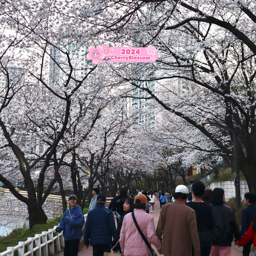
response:
<path fill-rule="evenodd" d="M 72 194 L 68 197 L 69 208 L 63 214 L 57 232 L 63 230 L 64 256 L 77 256 L 78 247 L 82 237 L 84 214 L 78 205 L 77 196 Z"/>

